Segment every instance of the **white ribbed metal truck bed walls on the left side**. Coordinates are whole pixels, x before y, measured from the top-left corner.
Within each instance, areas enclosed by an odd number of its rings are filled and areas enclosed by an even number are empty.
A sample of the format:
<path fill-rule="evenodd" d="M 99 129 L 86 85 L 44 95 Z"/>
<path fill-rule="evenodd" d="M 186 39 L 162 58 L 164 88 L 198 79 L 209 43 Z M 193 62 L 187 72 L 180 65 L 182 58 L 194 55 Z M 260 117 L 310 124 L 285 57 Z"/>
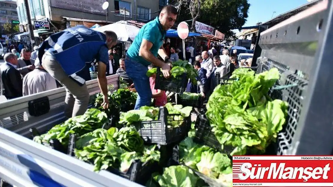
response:
<path fill-rule="evenodd" d="M 107 77 L 108 84 L 119 85 L 119 75 Z M 87 82 L 90 95 L 100 92 L 97 79 Z M 64 122 L 65 89 L 46 92 L 0 103 L 0 178 L 15 186 L 141 186 L 107 171 L 96 173 L 93 166 L 63 154 L 28 137 L 29 129 L 45 132 Z M 30 116 L 28 102 L 49 98 L 50 111 L 38 117 Z M 18 124 L 10 116 L 24 113 Z"/>

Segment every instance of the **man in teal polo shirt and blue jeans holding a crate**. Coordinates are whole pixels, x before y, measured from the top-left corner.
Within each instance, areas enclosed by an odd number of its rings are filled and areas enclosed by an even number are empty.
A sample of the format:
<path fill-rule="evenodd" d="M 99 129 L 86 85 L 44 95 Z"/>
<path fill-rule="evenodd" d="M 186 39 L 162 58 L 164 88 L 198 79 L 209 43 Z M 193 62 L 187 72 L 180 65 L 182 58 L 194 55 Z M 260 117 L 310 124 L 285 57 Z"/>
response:
<path fill-rule="evenodd" d="M 163 7 L 160 16 L 145 24 L 135 37 L 131 47 L 127 50 L 125 67 L 128 76 L 133 80 L 135 89 L 138 92 L 138 99 L 135 109 L 150 105 L 152 91 L 149 84 L 149 77 L 146 72 L 148 66 L 153 64 L 161 67 L 165 77 L 170 76 L 170 63 L 165 63 L 157 58 L 159 54 L 165 61 L 170 62 L 166 51 L 163 48 L 163 41 L 166 31 L 170 29 L 177 18 L 177 9 L 172 5 Z"/>

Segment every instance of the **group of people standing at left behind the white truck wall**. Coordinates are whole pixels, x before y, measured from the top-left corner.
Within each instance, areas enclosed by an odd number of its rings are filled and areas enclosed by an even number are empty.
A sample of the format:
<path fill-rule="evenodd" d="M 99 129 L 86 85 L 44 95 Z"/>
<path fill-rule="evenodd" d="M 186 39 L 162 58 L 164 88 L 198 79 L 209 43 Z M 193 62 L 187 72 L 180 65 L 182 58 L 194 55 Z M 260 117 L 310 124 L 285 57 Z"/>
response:
<path fill-rule="evenodd" d="M 46 72 L 34 53 L 28 48 L 22 48 L 17 54 L 16 49 L 4 55 L 0 66 L 1 92 L 6 99 L 14 99 L 57 88 L 56 80 Z"/>

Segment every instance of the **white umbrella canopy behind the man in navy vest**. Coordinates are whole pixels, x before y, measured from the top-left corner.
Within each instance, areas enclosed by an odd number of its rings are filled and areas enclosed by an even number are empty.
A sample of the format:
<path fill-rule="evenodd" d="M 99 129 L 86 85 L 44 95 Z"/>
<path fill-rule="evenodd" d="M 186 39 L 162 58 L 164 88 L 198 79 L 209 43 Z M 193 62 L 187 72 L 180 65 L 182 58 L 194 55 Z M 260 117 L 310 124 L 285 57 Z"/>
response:
<path fill-rule="evenodd" d="M 139 28 L 133 25 L 129 25 L 126 21 L 119 21 L 106 26 L 93 28 L 95 31 L 113 31 L 118 36 L 118 41 L 127 42 L 128 39 L 134 41 L 135 37 L 139 33 Z"/>

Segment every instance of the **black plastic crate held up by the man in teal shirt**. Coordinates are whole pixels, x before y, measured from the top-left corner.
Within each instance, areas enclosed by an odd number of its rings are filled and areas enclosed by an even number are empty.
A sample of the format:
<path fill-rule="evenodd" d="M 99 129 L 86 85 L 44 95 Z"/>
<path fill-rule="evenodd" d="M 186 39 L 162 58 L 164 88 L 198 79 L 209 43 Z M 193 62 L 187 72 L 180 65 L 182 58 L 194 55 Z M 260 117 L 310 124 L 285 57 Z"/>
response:
<path fill-rule="evenodd" d="M 183 73 L 176 78 L 170 76 L 165 78 L 161 68 L 157 68 L 155 89 L 170 91 L 174 93 L 183 93 L 187 86 L 187 74 Z"/>

